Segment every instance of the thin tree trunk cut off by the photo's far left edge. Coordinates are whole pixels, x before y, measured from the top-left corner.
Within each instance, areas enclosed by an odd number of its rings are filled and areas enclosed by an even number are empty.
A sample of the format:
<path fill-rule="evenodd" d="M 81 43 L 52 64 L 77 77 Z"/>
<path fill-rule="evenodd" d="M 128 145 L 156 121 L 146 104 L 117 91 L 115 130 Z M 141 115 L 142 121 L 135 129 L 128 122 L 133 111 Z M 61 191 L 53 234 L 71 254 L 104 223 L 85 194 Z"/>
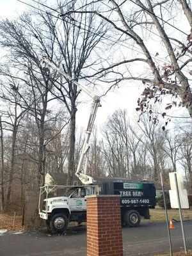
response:
<path fill-rule="evenodd" d="M 3 127 L 0 116 L 0 130 L 1 130 L 1 172 L 0 172 L 0 211 L 4 210 L 4 147 L 3 147 Z"/>

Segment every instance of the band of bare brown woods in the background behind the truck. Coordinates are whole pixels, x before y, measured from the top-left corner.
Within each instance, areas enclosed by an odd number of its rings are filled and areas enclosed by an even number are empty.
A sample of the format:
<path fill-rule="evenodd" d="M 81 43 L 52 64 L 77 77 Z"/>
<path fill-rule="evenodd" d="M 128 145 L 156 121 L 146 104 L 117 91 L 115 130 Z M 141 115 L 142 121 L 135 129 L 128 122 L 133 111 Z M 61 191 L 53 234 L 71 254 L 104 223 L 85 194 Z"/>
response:
<path fill-rule="evenodd" d="M 38 190 L 38 127 L 29 114 L 22 117 L 17 136 L 1 130 L 1 209 L 9 209 L 14 204 L 24 202 L 26 191 Z M 8 123 L 8 119 L 6 121 Z M 44 136 L 44 168 L 48 173 L 67 173 L 68 166 L 68 125 L 62 129 L 61 118 L 49 122 Z M 174 124 L 172 124 L 174 126 Z M 4 131 L 4 132 L 3 132 Z M 173 132 L 174 131 L 174 132 Z M 83 146 L 83 130 L 78 132 L 75 151 L 75 167 Z M 117 109 L 108 117 L 102 127 L 102 134 L 93 131 L 88 156 L 88 174 L 93 177 L 126 177 L 130 180 L 159 180 L 160 167 L 163 166 L 164 180 L 168 173 L 182 170 L 186 184 L 191 186 L 191 125 L 172 131 L 163 131 L 161 124 L 154 125 L 147 116 L 134 122 L 125 109 Z M 13 138 L 15 141 L 13 141 Z M 13 154 L 14 147 L 14 159 Z M 14 160 L 14 161 L 13 161 Z M 13 166 L 13 168 L 12 168 Z M 2 175 L 3 174 L 3 175 Z M 12 175 L 12 176 L 11 176 Z"/>

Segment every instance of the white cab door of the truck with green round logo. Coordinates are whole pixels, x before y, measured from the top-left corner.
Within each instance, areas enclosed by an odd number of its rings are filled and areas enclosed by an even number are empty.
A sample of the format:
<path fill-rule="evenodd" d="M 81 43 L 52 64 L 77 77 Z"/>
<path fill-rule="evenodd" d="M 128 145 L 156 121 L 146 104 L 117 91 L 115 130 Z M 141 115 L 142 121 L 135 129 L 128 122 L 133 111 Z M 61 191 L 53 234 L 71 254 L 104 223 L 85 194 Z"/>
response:
<path fill-rule="evenodd" d="M 70 211 L 86 211 L 86 191 L 84 188 L 77 188 L 68 199 Z"/>

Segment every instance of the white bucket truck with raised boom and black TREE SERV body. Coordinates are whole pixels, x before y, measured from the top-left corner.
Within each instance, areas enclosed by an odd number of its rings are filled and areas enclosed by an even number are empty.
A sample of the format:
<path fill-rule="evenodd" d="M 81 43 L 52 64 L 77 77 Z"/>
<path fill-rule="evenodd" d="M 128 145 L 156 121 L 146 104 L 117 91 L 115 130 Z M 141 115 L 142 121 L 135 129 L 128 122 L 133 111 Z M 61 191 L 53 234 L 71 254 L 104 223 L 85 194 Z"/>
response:
<path fill-rule="evenodd" d="M 86 127 L 83 149 L 79 158 L 76 176 L 81 180 L 83 186 L 57 186 L 49 185 L 40 188 L 38 209 L 40 218 L 44 219 L 47 225 L 54 232 L 63 232 L 70 221 L 78 223 L 86 221 L 86 196 L 90 195 L 121 195 L 120 206 L 122 224 L 130 227 L 140 225 L 141 217 L 150 218 L 149 209 L 156 206 L 156 189 L 154 184 L 149 182 L 104 182 L 95 185 L 97 180 L 86 175 L 87 164 L 83 170 L 84 159 L 87 156 L 95 116 L 100 105 L 100 97 L 90 92 L 83 85 L 74 81 L 60 68 L 56 67 L 48 58 L 43 57 L 41 67 L 45 72 L 50 68 L 64 76 L 68 81 L 76 84 L 79 90 L 85 92 L 93 99 L 92 109 Z M 42 196 L 45 196 L 41 208 Z"/>

